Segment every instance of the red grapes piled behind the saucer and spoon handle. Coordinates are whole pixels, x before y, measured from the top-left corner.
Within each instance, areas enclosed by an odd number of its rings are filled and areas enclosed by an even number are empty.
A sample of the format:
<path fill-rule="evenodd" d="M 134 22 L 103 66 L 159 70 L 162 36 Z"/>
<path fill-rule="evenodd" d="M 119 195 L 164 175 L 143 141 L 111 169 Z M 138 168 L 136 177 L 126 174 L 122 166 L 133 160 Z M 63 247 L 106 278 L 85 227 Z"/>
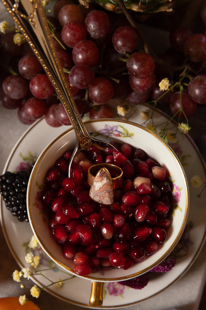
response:
<path fill-rule="evenodd" d="M 115 117 L 107 103 L 117 98 L 125 98 L 129 105 L 169 103 L 171 113 L 179 119 L 192 116 L 198 104 L 206 104 L 206 33 L 193 34 L 185 27 L 173 29 L 169 37 L 173 55 L 161 55 L 164 66 L 137 49 L 138 31 L 125 16 L 105 12 L 93 4 L 86 8 L 71 0 L 57 1 L 53 12 L 49 18 L 54 26 L 53 42 L 81 115 L 89 112 L 90 119 Z M 33 51 L 27 44 L 15 45 L 13 35 L 6 32 L 0 38 L 4 64 L 15 71 L 11 74 L 11 70 L 2 68 L 2 105 L 17 108 L 24 124 L 45 116 L 51 126 L 70 125 Z M 186 69 L 180 91 L 179 84 L 172 86 L 179 81 L 183 71 L 179 65 L 183 63 Z M 171 72 L 171 90 L 160 91 L 159 82 Z"/>

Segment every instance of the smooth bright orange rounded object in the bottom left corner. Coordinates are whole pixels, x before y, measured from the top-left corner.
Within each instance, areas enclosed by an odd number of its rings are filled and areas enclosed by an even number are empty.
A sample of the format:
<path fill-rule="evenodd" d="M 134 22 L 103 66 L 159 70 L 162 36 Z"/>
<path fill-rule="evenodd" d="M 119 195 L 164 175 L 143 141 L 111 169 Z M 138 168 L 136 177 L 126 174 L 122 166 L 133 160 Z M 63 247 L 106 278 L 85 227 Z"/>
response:
<path fill-rule="evenodd" d="M 34 303 L 27 301 L 25 305 L 21 306 L 19 297 L 3 297 L 0 298 L 1 310 L 40 310 Z"/>

